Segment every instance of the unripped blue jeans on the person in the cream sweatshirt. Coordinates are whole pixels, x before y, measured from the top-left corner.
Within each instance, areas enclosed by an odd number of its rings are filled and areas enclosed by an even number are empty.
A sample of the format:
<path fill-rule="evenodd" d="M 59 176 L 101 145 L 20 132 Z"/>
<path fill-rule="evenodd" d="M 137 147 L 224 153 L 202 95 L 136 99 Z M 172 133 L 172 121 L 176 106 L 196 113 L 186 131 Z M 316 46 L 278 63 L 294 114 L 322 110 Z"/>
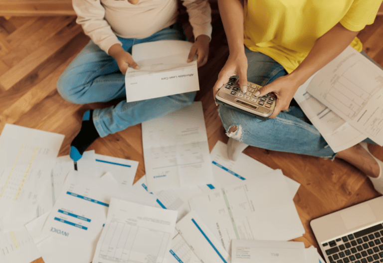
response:
<path fill-rule="evenodd" d="M 175 23 L 143 39 L 121 38 L 129 53 L 138 43 L 157 40 L 187 40 L 182 24 Z M 57 90 L 67 101 L 84 104 L 125 98 L 125 76 L 116 60 L 101 50 L 92 40 L 80 51 L 57 81 Z M 93 123 L 104 137 L 129 126 L 168 114 L 192 104 L 196 92 L 135 102 L 120 101 L 117 105 L 93 111 Z"/>

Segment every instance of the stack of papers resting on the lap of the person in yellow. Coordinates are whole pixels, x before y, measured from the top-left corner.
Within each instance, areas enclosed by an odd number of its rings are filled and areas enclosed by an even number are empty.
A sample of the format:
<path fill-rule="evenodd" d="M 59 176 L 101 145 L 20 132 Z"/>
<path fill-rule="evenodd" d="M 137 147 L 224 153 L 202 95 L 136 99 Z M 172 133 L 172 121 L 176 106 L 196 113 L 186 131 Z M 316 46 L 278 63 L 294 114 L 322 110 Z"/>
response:
<path fill-rule="evenodd" d="M 366 138 L 383 146 L 383 70 L 351 46 L 294 98 L 334 152 Z"/>

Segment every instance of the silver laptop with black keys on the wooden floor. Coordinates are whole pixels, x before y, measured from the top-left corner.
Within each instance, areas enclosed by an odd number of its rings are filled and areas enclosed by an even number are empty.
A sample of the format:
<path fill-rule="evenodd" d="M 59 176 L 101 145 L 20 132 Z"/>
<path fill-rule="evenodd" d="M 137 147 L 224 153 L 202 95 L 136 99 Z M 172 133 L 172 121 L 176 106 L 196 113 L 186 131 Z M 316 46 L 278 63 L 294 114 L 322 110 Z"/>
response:
<path fill-rule="evenodd" d="M 383 196 L 310 222 L 327 263 L 383 262 Z"/>

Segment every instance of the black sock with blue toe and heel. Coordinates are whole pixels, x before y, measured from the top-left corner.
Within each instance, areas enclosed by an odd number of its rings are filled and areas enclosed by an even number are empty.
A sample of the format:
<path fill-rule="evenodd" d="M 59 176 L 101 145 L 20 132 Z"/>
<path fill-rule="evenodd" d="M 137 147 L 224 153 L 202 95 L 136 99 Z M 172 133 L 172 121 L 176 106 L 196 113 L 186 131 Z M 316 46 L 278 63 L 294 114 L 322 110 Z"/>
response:
<path fill-rule="evenodd" d="M 86 148 L 89 147 L 100 135 L 93 124 L 93 110 L 87 110 L 82 117 L 82 125 L 79 133 L 74 137 L 70 144 L 69 156 L 77 162 Z"/>

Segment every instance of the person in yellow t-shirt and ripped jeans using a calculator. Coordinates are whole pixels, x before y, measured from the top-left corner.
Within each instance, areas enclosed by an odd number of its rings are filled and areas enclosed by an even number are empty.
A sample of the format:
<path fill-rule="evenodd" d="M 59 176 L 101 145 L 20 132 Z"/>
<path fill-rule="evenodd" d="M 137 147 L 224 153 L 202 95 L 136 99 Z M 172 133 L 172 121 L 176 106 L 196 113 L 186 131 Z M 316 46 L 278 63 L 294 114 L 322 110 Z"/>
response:
<path fill-rule="evenodd" d="M 366 173 L 383 194 L 383 162 L 367 148 L 370 139 L 335 153 L 302 110 L 290 106 L 298 87 L 351 44 L 362 51 L 357 34 L 375 20 L 382 0 L 218 0 L 229 57 L 213 87 L 233 75 L 242 92 L 247 81 L 263 86 L 255 95 L 273 92 L 276 105 L 266 121 L 219 106 L 230 137 L 232 159 L 248 145 L 334 159 Z M 363 53 L 363 52 L 362 52 Z M 366 55 L 364 53 L 364 55 Z M 367 56 L 367 55 L 366 55 Z"/>

